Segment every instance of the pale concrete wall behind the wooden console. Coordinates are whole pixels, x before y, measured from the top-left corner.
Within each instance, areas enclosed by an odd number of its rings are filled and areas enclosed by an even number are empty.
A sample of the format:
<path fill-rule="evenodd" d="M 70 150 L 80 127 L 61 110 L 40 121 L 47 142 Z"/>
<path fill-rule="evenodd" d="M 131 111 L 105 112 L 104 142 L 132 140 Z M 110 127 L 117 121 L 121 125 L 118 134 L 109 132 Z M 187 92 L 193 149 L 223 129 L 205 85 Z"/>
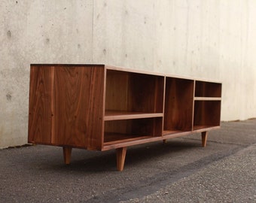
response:
<path fill-rule="evenodd" d="M 30 63 L 221 80 L 221 120 L 256 117 L 255 19 L 254 0 L 2 0 L 0 147 L 26 144 Z"/>

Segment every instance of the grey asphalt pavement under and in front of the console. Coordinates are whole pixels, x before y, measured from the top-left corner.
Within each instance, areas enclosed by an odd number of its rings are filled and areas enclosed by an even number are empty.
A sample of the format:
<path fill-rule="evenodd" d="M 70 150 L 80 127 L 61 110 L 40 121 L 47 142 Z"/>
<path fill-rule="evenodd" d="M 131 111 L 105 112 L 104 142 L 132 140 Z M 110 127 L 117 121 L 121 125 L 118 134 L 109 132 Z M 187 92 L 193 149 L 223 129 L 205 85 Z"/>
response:
<path fill-rule="evenodd" d="M 61 147 L 0 150 L 0 202 L 255 202 L 256 120 L 209 133 L 128 147 L 122 172 L 114 150 Z"/>

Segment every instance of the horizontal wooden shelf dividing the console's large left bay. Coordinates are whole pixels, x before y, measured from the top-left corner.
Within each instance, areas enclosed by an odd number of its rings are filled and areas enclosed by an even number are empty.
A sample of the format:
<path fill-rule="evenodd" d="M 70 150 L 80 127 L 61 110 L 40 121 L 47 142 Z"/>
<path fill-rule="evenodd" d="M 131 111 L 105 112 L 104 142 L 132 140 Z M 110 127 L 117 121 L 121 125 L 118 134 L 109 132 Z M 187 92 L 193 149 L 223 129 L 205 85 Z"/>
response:
<path fill-rule="evenodd" d="M 163 113 L 142 113 L 130 111 L 105 111 L 104 120 L 128 120 L 128 119 L 142 119 L 163 117 Z"/>

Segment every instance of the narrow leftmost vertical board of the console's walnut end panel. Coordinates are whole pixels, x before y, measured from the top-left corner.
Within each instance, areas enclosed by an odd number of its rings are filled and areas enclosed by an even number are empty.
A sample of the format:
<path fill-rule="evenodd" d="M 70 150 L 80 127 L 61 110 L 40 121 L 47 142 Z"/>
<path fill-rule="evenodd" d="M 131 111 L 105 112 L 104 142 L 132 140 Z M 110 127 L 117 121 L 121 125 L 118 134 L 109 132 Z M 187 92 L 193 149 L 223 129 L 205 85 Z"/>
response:
<path fill-rule="evenodd" d="M 53 67 L 32 65 L 29 86 L 29 143 L 51 143 Z"/>

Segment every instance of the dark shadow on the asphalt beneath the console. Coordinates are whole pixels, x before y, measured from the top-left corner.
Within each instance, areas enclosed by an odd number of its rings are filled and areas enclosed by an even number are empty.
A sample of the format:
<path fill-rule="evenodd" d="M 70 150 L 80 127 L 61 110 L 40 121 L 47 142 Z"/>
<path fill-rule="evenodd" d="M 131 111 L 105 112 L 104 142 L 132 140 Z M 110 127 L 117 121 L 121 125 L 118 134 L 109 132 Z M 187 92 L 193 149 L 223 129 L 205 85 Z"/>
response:
<path fill-rule="evenodd" d="M 168 141 L 166 144 L 163 142 L 154 142 L 149 144 L 140 144 L 127 148 L 125 168 L 136 167 L 141 162 L 151 162 L 154 159 L 161 159 L 163 156 L 175 156 L 183 150 L 190 148 L 200 147 L 198 141 Z M 116 153 L 115 150 L 104 152 L 88 151 L 73 149 L 72 162 L 70 165 L 65 165 L 63 162 L 62 154 L 57 153 L 58 156 L 48 157 L 48 162 L 44 164 L 48 169 L 58 171 L 81 171 L 89 173 L 98 173 L 102 171 L 117 171 L 116 168 Z"/>

